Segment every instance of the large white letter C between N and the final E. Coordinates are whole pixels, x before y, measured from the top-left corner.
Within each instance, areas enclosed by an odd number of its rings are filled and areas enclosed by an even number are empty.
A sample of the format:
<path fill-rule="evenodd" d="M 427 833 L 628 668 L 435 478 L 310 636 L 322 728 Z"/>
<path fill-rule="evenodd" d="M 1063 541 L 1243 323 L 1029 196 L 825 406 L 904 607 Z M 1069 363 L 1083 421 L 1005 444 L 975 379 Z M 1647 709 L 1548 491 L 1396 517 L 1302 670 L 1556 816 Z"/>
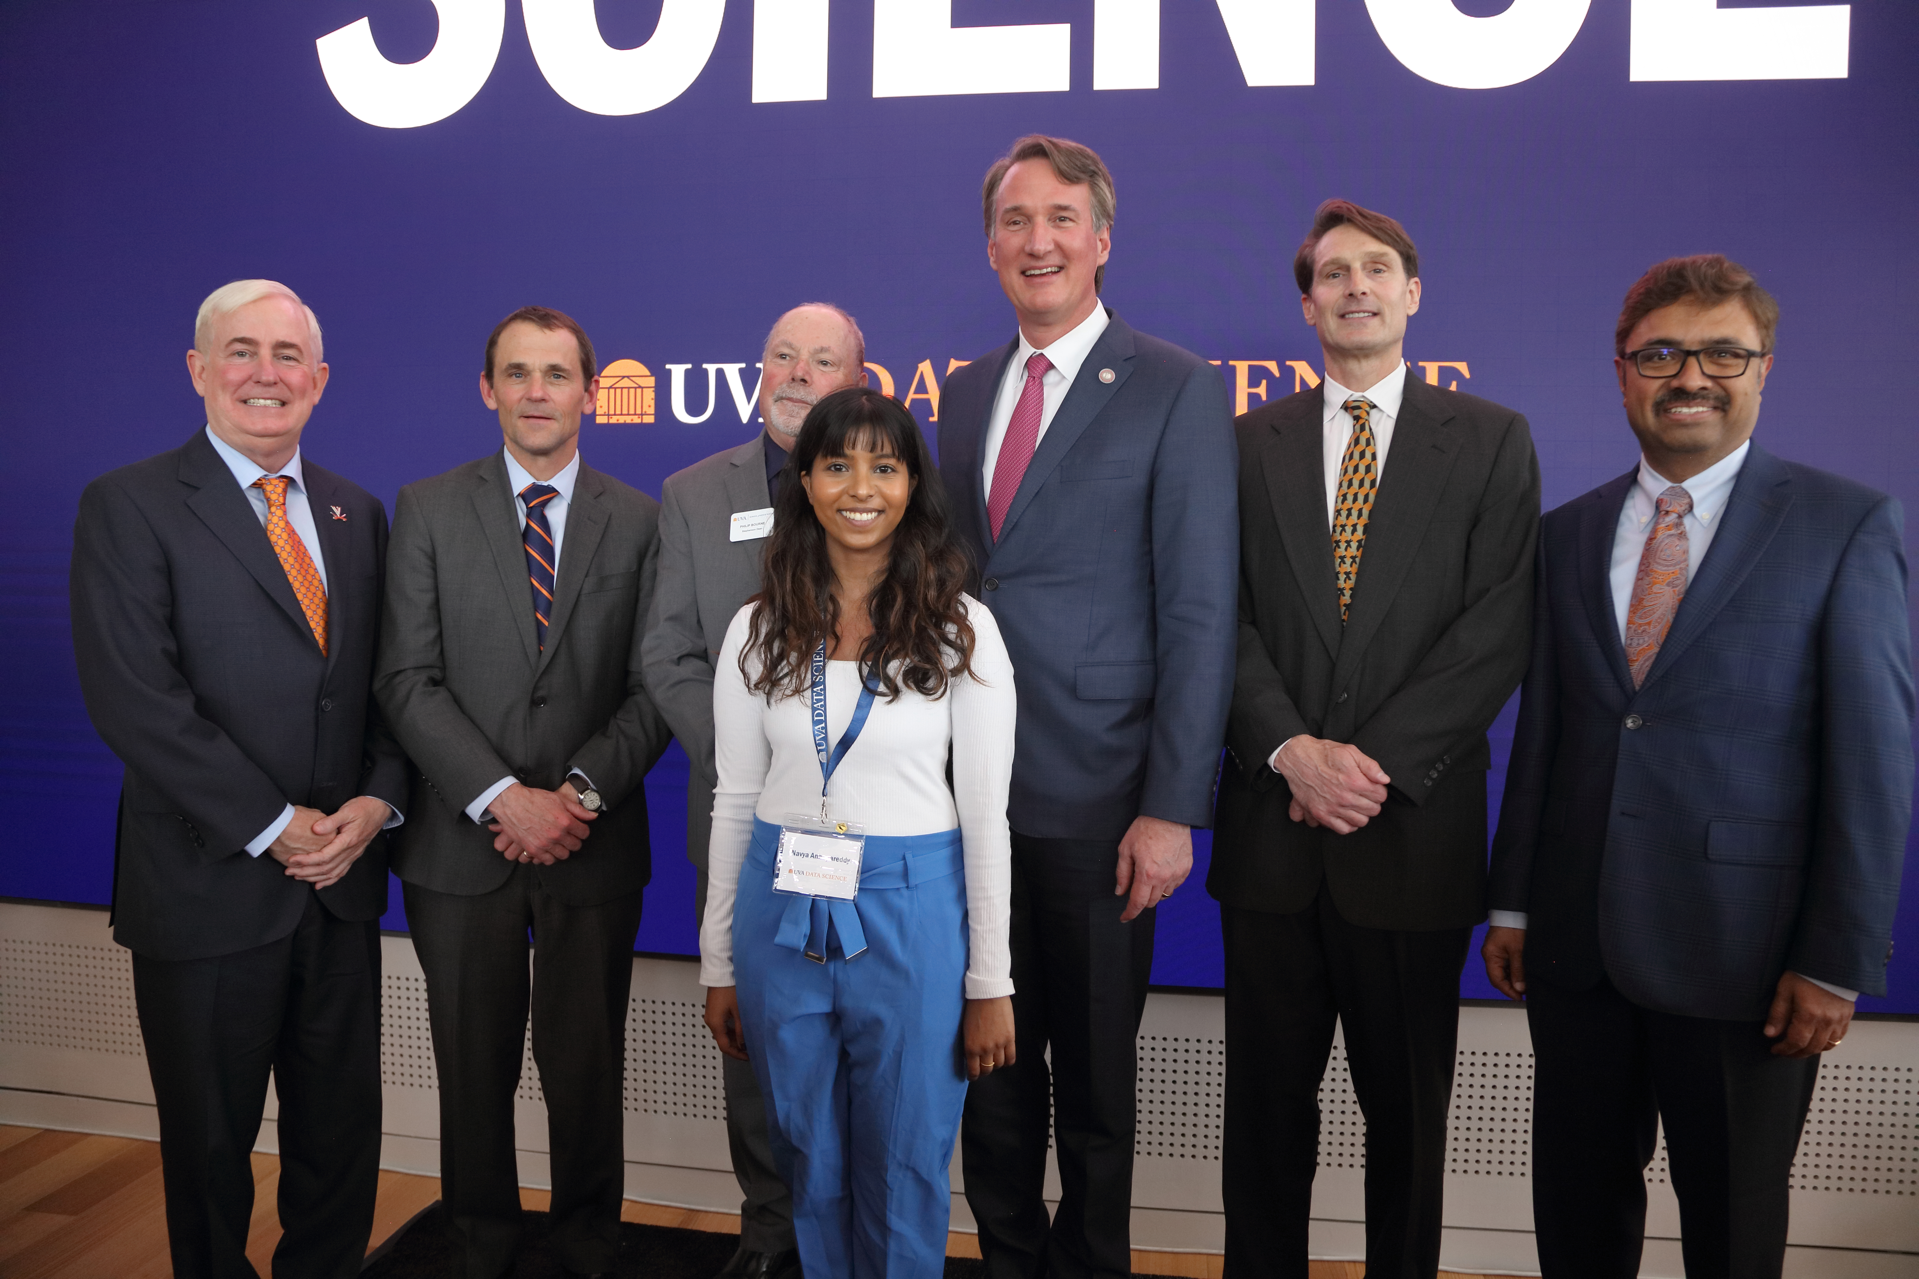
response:
<path fill-rule="evenodd" d="M 1504 88 L 1558 61 L 1591 0 L 1512 0 L 1495 17 L 1453 0 L 1366 0 L 1372 25 L 1407 71 L 1453 88 Z"/>

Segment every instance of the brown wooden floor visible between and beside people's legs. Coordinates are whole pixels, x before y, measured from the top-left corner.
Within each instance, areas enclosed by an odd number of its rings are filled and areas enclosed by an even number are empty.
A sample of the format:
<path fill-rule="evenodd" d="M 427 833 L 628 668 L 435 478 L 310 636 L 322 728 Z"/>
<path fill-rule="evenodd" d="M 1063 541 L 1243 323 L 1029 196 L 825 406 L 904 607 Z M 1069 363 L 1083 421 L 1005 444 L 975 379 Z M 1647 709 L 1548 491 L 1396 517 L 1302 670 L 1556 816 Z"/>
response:
<path fill-rule="evenodd" d="M 248 1258 L 261 1275 L 280 1239 L 274 1183 L 280 1160 L 253 1156 L 253 1231 Z M 380 1174 L 372 1239 L 382 1243 L 420 1208 L 439 1198 L 438 1177 Z M 520 1191 L 533 1210 L 545 1191 Z M 628 1200 L 620 1216 L 649 1225 L 739 1233 L 739 1216 L 693 1212 Z M 368 1248 L 370 1250 L 370 1248 Z M 946 1256 L 979 1256 L 973 1235 L 954 1233 Z M 1153 1275 L 1224 1275 L 1219 1256 L 1134 1250 L 1132 1267 Z M 1359 1262 L 1313 1262 L 1313 1279 L 1362 1279 Z M 159 1145 L 130 1137 L 94 1137 L 38 1128 L 0 1126 L 0 1279 L 171 1279 Z M 1457 1279 L 1478 1279 L 1460 1275 Z"/>

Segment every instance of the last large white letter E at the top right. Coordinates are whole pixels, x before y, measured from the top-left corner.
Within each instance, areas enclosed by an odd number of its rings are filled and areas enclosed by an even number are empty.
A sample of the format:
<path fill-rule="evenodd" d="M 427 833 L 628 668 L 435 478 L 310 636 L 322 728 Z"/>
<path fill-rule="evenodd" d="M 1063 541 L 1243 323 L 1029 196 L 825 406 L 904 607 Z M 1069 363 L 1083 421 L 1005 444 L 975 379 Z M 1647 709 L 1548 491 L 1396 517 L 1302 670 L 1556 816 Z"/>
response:
<path fill-rule="evenodd" d="M 1842 81 L 1850 4 L 1721 10 L 1718 0 L 1633 0 L 1635 81 Z"/>

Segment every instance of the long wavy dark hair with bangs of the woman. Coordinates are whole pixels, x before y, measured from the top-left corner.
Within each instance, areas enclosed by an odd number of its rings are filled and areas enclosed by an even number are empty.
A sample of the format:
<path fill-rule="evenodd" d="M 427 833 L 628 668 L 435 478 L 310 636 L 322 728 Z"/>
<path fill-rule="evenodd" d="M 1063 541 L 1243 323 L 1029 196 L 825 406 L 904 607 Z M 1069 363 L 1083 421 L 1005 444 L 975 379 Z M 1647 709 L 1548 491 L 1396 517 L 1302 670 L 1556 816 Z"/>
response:
<path fill-rule="evenodd" d="M 971 558 L 952 527 L 946 489 L 927 458 L 927 441 L 900 401 L 869 387 L 833 391 L 814 405 L 800 426 L 779 483 L 773 535 L 760 571 L 760 608 L 739 654 L 746 685 L 766 696 L 798 694 L 808 686 L 814 650 L 833 648 L 839 600 L 827 531 L 819 525 L 800 476 L 816 458 L 842 458 L 846 449 L 892 453 L 915 479 L 913 497 L 892 533 L 887 575 L 865 598 L 873 635 L 860 646 L 860 671 L 888 700 L 900 685 L 938 698 L 961 673 L 973 673 L 973 627 L 960 606 Z M 760 675 L 746 656 L 758 658 Z"/>

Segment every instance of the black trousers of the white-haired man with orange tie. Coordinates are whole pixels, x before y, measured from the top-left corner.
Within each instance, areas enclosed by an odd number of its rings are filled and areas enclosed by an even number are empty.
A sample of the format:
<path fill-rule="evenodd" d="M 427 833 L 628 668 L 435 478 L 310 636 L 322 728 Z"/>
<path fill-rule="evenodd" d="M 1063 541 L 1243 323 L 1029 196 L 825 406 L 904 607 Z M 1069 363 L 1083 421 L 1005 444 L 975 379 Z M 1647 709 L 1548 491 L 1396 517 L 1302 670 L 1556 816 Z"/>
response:
<path fill-rule="evenodd" d="M 178 1279 L 255 1279 L 253 1141 L 280 1097 L 274 1279 L 357 1275 L 380 1185 L 380 924 L 307 897 L 294 932 L 213 959 L 134 953 Z"/>

